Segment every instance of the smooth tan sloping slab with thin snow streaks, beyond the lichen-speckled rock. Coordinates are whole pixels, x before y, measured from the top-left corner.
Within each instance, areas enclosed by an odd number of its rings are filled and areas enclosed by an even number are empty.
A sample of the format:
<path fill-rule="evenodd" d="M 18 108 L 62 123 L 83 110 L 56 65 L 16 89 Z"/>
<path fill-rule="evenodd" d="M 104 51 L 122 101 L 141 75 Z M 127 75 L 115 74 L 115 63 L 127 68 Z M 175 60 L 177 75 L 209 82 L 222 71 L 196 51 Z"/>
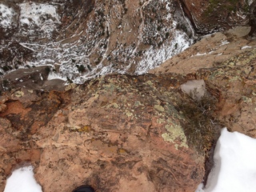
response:
<path fill-rule="evenodd" d="M 175 55 L 161 66 L 149 70 L 150 74 L 195 73 L 202 68 L 219 66 L 222 62 L 233 58 L 237 54 L 245 53 L 256 47 L 254 40 L 247 40 L 248 27 L 236 27 L 223 33 L 206 35 L 181 54 Z"/>

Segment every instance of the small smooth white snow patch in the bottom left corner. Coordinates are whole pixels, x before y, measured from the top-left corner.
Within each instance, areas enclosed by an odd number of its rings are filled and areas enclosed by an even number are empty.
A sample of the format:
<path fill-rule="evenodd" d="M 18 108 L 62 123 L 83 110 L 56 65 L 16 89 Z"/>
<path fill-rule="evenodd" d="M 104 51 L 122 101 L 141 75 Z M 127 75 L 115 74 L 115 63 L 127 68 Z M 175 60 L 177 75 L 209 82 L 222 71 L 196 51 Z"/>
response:
<path fill-rule="evenodd" d="M 32 166 L 25 166 L 14 170 L 7 179 L 4 192 L 42 192 L 42 187 L 34 179 Z"/>

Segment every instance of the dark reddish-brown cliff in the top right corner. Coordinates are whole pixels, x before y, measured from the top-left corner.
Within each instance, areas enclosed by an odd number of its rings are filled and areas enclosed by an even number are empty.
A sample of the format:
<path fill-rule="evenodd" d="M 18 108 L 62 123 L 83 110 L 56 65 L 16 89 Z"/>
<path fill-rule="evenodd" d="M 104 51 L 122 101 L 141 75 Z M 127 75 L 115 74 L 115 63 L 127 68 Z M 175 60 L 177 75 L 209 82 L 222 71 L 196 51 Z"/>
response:
<path fill-rule="evenodd" d="M 186 16 L 198 33 L 228 30 L 232 26 L 252 26 L 255 31 L 256 4 L 254 1 L 181 0 Z"/>

